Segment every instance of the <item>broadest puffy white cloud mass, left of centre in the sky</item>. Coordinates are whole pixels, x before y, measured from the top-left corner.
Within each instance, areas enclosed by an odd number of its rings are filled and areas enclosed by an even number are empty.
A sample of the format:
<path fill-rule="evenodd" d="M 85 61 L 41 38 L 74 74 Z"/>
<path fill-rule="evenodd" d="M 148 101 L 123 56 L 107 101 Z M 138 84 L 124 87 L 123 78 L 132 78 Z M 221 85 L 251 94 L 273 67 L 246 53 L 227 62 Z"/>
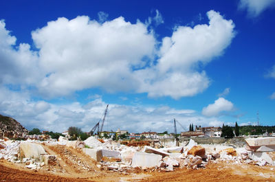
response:
<path fill-rule="evenodd" d="M 47 71 L 38 87 L 52 95 L 91 87 L 135 90 L 139 84 L 131 69 L 142 67 L 142 58 L 151 57 L 155 45 L 143 23 L 131 24 L 122 17 L 102 24 L 87 16 L 59 18 L 32 32 L 32 38 Z"/>

